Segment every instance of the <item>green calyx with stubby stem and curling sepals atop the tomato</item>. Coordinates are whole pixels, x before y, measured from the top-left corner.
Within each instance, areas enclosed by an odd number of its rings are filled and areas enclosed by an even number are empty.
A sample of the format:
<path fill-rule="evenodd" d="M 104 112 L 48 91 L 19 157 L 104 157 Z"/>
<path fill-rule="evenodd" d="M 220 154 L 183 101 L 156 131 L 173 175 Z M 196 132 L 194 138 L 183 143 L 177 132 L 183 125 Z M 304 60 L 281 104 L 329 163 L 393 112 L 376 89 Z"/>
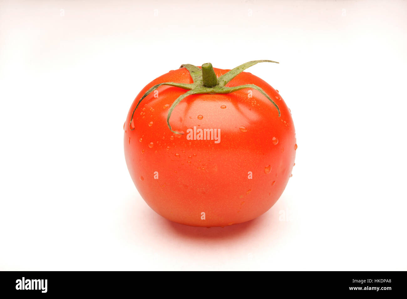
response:
<path fill-rule="evenodd" d="M 187 96 L 190 96 L 191 94 L 230 94 L 232 92 L 236 92 L 238 90 L 244 89 L 244 88 L 251 88 L 255 89 L 263 96 L 265 96 L 273 105 L 276 107 L 278 111 L 278 116 L 280 116 L 280 109 L 278 108 L 277 104 L 265 93 L 263 89 L 258 87 L 257 85 L 254 84 L 244 84 L 244 85 L 239 85 L 239 86 L 233 86 L 233 87 L 227 87 L 225 86 L 228 84 L 234 77 L 236 77 L 238 74 L 243 72 L 245 69 L 251 67 L 252 65 L 255 65 L 259 62 L 273 62 L 273 63 L 278 63 L 276 61 L 271 61 L 271 60 L 254 60 L 254 61 L 249 61 L 246 63 L 243 63 L 236 68 L 230 70 L 229 72 L 223 74 L 222 76 L 219 76 L 217 78 L 212 64 L 211 63 L 204 63 L 201 68 L 198 68 L 195 65 L 192 64 L 183 64 L 181 65 L 180 68 L 186 68 L 193 80 L 193 83 L 176 83 L 176 82 L 164 82 L 160 84 L 156 84 L 153 87 L 151 87 L 147 92 L 140 98 L 138 101 L 136 108 L 134 108 L 133 113 L 131 114 L 131 120 L 129 122 L 129 129 L 133 131 L 136 129 L 135 127 L 131 128 L 130 124 L 133 121 L 134 117 L 134 112 L 136 111 L 137 107 L 140 105 L 141 101 L 148 96 L 152 91 L 160 87 L 161 85 L 168 85 L 168 86 L 174 86 L 174 87 L 179 87 L 183 89 L 187 89 L 188 91 L 181 96 L 179 96 L 174 103 L 171 105 L 170 109 L 168 110 L 168 115 L 167 115 L 167 126 L 171 130 L 171 132 L 175 134 L 184 134 L 182 132 L 177 132 L 173 131 L 170 125 L 170 117 L 171 113 L 173 112 L 174 108 L 181 102 L 184 98 Z"/>

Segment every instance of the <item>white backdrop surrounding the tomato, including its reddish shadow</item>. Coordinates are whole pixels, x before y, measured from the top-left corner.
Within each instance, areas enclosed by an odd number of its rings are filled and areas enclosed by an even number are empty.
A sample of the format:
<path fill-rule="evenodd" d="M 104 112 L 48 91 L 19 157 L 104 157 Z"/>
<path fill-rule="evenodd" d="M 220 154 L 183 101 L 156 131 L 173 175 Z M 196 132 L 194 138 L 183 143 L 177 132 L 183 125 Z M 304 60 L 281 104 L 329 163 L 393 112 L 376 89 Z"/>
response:
<path fill-rule="evenodd" d="M 407 270 L 407 1 L 0 1 L 0 270 Z M 279 89 L 293 177 L 195 228 L 134 187 L 123 122 L 182 63 Z M 286 214 L 283 221 L 280 216 Z"/>

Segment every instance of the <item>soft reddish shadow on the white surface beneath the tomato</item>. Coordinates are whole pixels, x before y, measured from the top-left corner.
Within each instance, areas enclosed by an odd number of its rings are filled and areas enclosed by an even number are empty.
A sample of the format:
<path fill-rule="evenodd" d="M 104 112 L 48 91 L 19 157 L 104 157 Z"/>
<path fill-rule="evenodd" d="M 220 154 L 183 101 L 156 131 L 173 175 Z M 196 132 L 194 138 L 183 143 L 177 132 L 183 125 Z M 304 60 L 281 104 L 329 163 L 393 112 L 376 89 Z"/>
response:
<path fill-rule="evenodd" d="M 157 238 L 161 241 L 184 240 L 190 245 L 200 244 L 234 244 L 229 241 L 256 242 L 258 239 L 279 240 L 287 229 L 289 222 L 279 221 L 279 211 L 287 210 L 284 200 L 272 207 L 271 210 L 259 217 L 240 224 L 225 227 L 193 227 L 172 222 L 158 215 L 142 199 L 134 199 L 129 196 L 125 210 L 127 211 L 127 227 L 129 227 L 129 238 L 134 242 L 148 244 Z M 141 212 L 142 211 L 142 212 Z"/>

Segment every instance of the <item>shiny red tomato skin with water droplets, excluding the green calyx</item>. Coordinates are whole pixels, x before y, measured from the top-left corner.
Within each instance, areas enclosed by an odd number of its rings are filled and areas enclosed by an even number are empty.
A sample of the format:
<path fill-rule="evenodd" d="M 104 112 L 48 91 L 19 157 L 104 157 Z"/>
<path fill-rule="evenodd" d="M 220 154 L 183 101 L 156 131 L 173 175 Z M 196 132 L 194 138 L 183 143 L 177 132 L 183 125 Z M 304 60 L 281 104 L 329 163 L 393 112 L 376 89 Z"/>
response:
<path fill-rule="evenodd" d="M 214 71 L 218 77 L 228 72 Z M 276 107 L 253 89 L 196 94 L 173 110 L 172 129 L 185 132 L 178 135 L 168 129 L 166 118 L 169 107 L 186 90 L 163 85 L 157 89 L 158 97 L 151 92 L 144 98 L 130 124 L 138 100 L 163 82 L 193 80 L 185 68 L 153 80 L 137 95 L 124 125 L 125 159 L 142 198 L 161 216 L 192 226 L 243 223 L 267 212 L 287 185 L 295 159 L 294 124 L 280 94 L 262 79 L 242 72 L 226 86 L 261 87 L 278 105 L 280 117 Z M 187 140 L 186 130 L 194 126 L 220 129 L 220 142 Z"/>

